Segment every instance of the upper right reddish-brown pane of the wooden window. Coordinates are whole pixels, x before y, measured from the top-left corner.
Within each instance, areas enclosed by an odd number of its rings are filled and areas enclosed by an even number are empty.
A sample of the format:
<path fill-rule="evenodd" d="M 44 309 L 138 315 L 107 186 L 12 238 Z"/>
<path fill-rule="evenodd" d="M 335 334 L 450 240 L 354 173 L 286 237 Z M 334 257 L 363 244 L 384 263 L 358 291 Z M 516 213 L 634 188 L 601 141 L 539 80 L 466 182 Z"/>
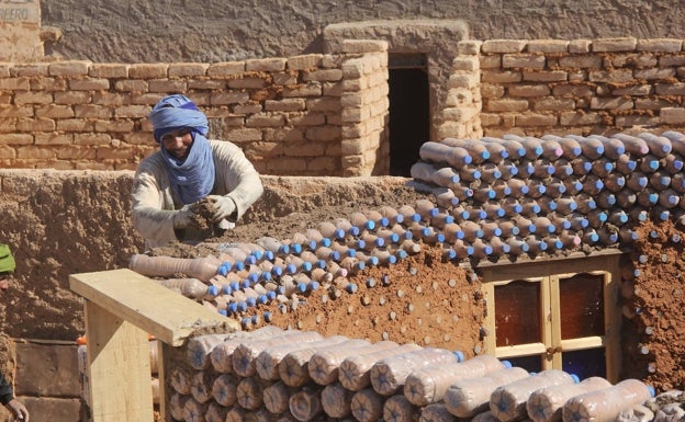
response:
<path fill-rule="evenodd" d="M 604 335 L 604 275 L 560 278 L 561 338 Z"/>

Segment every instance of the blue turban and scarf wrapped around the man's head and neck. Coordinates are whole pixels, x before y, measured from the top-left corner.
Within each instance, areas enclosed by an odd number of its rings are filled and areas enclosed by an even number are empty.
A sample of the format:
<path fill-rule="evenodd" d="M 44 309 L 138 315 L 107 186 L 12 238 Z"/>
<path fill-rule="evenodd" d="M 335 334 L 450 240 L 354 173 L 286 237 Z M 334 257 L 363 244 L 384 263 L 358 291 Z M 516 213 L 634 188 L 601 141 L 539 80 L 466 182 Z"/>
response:
<path fill-rule="evenodd" d="M 183 204 L 195 203 L 212 192 L 214 187 L 214 158 L 206 139 L 207 118 L 195 103 L 184 95 L 173 94 L 161 99 L 153 107 L 148 118 L 153 123 L 153 135 L 160 144 L 161 155 L 169 173 L 171 189 Z M 193 144 L 184 160 L 169 155 L 161 138 L 169 132 L 190 128 Z"/>

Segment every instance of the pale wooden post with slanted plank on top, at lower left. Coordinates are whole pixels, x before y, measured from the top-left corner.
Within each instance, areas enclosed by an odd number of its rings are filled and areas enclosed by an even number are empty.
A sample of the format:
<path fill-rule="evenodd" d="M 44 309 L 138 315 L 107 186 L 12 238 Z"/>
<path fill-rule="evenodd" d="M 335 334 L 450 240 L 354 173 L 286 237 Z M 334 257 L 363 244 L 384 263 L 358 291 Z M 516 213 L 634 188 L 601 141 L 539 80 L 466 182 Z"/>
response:
<path fill-rule="evenodd" d="M 148 334 L 159 341 L 161 420 L 166 421 L 165 356 L 203 328 L 239 331 L 226 318 L 127 269 L 72 274 L 86 299 L 90 411 L 93 422 L 154 420 Z"/>

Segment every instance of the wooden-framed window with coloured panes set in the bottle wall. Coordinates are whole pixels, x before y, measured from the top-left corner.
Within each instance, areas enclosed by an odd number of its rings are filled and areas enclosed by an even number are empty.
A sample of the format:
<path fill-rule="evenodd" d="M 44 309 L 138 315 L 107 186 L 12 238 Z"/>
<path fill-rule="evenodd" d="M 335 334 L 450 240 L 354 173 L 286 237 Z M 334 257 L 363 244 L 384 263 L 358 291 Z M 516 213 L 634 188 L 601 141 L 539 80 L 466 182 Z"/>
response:
<path fill-rule="evenodd" d="M 529 372 L 617 381 L 620 253 L 480 267 L 486 353 Z"/>

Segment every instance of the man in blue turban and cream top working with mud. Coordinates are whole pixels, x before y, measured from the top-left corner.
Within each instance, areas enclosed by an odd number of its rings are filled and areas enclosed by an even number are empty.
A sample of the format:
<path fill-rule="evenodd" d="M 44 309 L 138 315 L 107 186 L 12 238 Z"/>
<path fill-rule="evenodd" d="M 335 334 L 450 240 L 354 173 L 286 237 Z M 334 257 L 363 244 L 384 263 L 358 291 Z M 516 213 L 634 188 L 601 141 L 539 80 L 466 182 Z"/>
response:
<path fill-rule="evenodd" d="M 184 95 L 165 96 L 148 118 L 160 148 L 138 164 L 132 194 L 133 225 L 146 248 L 216 235 L 194 227 L 193 205 L 200 201 L 210 203 L 215 229 L 233 228 L 263 193 L 243 150 L 207 139 L 206 116 Z"/>

